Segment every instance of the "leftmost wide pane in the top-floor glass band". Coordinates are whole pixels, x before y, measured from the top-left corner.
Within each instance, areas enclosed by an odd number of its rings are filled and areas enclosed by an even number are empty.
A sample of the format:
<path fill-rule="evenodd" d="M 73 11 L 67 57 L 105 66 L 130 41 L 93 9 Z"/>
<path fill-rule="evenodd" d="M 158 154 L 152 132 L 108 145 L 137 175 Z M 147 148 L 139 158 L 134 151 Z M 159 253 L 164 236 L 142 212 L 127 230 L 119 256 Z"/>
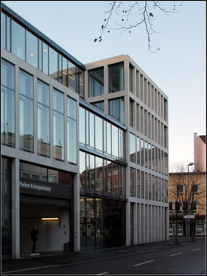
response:
<path fill-rule="evenodd" d="M 26 29 L 12 20 L 12 54 L 26 59 Z"/>

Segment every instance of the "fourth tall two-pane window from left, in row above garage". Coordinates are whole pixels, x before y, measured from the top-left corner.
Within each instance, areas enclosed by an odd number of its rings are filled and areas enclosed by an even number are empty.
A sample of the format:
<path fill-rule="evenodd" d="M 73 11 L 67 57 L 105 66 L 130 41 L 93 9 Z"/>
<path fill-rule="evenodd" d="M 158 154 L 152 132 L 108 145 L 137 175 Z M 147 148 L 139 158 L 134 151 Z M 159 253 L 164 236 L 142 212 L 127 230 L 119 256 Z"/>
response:
<path fill-rule="evenodd" d="M 53 158 L 64 160 L 64 95 L 53 89 Z"/>

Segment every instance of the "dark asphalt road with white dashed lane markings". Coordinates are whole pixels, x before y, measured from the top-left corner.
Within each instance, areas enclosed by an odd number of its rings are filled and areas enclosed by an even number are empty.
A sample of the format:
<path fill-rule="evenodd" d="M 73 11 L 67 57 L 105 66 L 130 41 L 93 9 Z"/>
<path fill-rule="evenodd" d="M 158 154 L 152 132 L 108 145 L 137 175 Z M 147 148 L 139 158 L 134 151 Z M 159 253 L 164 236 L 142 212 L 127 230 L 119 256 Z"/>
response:
<path fill-rule="evenodd" d="M 18 275 L 205 275 L 205 252 L 205 241 L 143 254 L 127 252 L 123 248 L 118 252 L 119 256 L 58 265 Z"/>

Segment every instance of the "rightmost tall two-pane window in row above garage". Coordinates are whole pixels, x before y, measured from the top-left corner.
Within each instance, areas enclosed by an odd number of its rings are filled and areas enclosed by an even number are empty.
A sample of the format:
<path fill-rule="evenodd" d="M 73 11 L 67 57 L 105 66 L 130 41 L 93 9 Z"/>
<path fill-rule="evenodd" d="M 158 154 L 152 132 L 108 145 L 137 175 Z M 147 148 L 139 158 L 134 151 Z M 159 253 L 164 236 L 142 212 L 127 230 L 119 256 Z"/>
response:
<path fill-rule="evenodd" d="M 67 160 L 77 164 L 77 102 L 67 97 Z"/>

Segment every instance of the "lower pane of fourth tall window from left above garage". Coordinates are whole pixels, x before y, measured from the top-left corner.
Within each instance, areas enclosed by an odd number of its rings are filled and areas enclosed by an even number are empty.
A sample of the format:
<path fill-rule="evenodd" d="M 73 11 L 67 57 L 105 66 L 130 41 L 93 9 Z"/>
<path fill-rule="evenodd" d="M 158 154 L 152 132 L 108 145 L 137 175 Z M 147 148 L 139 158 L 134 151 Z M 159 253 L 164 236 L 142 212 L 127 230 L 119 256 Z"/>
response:
<path fill-rule="evenodd" d="M 53 111 L 53 157 L 64 160 L 64 115 Z"/>

